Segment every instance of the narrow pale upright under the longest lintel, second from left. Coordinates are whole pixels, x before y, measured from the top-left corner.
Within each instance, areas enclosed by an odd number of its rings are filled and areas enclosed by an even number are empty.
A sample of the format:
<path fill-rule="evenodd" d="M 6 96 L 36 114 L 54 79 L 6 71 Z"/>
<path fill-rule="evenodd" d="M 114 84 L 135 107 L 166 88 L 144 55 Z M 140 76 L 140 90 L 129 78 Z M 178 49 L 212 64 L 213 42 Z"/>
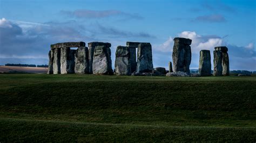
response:
<path fill-rule="evenodd" d="M 53 74 L 60 74 L 60 48 L 53 49 Z"/>

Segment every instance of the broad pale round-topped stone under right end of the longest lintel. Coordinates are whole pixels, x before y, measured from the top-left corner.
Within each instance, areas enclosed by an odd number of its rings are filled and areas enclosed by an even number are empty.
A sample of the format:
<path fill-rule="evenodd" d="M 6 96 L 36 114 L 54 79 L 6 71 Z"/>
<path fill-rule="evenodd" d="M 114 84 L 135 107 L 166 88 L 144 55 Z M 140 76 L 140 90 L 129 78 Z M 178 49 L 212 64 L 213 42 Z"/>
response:
<path fill-rule="evenodd" d="M 78 47 L 75 54 L 75 73 L 89 74 L 89 52 L 87 47 Z"/>

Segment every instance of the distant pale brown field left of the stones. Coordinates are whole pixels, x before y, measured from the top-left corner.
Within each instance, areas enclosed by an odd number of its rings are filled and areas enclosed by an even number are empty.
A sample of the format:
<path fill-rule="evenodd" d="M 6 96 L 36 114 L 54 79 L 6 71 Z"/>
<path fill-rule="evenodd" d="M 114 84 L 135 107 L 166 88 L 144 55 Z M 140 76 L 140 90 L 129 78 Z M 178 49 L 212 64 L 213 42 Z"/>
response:
<path fill-rule="evenodd" d="M 47 73 L 48 68 L 0 66 L 0 73 Z"/>

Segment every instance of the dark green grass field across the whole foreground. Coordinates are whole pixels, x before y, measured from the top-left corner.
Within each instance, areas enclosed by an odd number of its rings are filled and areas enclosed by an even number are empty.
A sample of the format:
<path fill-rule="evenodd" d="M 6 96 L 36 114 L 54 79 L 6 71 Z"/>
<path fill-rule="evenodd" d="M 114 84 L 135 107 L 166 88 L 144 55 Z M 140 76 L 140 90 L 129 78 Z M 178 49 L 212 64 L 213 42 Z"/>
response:
<path fill-rule="evenodd" d="M 256 141 L 256 76 L 0 81 L 0 142 Z"/>

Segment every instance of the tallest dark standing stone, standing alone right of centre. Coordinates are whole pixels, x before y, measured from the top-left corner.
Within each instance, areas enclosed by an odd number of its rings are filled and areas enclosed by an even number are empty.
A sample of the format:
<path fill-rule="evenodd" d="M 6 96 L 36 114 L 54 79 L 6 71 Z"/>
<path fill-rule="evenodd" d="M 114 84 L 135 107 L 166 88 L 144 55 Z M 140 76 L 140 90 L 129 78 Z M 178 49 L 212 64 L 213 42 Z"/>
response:
<path fill-rule="evenodd" d="M 191 39 L 174 38 L 172 61 L 173 71 L 183 71 L 190 73 L 191 63 Z"/>

